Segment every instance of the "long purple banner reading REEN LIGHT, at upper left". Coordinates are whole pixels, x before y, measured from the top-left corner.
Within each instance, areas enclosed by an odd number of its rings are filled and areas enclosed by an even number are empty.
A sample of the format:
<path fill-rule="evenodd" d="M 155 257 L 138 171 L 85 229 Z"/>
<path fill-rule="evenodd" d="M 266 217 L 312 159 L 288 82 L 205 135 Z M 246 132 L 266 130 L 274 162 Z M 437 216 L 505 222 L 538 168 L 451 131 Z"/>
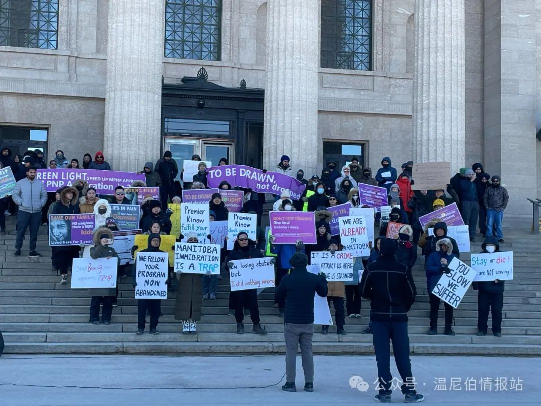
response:
<path fill-rule="evenodd" d="M 136 180 L 146 181 L 144 174 L 94 169 L 38 169 L 36 179 L 43 182 L 46 192 L 56 192 L 61 187 L 72 186 L 76 180 L 84 180 L 96 189 L 96 194 L 109 195 L 115 194 L 117 186 L 130 187 Z"/>

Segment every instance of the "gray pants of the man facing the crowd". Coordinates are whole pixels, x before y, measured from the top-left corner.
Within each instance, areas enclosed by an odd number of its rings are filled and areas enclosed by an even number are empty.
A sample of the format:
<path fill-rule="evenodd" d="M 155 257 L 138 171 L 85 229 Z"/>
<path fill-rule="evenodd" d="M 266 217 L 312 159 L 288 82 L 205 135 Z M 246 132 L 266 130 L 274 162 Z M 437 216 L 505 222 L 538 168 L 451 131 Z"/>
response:
<path fill-rule="evenodd" d="M 305 383 L 314 382 L 314 358 L 312 356 L 312 336 L 314 325 L 283 323 L 283 338 L 286 342 L 286 382 L 295 382 L 297 348 L 301 347 L 302 370 Z"/>

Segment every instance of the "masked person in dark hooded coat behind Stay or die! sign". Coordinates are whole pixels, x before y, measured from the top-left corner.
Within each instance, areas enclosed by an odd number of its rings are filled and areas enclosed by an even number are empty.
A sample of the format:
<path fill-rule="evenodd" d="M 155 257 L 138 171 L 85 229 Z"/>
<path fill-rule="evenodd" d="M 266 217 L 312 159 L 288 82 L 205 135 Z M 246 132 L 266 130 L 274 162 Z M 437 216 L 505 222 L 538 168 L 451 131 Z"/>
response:
<path fill-rule="evenodd" d="M 483 251 L 499 252 L 500 243 L 496 237 L 487 237 L 481 245 Z M 495 337 L 502 337 L 502 310 L 504 307 L 505 280 L 494 279 L 483 282 L 474 282 L 473 289 L 479 291 L 477 321 L 478 336 L 486 336 L 489 329 L 489 310 L 492 311 L 492 333 Z"/>

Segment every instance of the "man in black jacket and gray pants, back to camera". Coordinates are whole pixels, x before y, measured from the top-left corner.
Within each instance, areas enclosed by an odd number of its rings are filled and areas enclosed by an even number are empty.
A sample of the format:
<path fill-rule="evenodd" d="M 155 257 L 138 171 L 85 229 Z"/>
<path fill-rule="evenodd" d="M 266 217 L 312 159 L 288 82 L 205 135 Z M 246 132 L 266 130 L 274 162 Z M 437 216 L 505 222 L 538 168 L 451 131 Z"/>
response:
<path fill-rule="evenodd" d="M 314 359 L 312 336 L 314 335 L 314 295 L 327 296 L 325 274 L 315 275 L 306 270 L 308 257 L 295 252 L 289 259 L 292 270 L 284 276 L 276 288 L 277 302 L 286 300 L 283 314 L 283 338 L 286 342 L 286 384 L 282 390 L 295 392 L 295 364 L 297 347 L 300 345 L 302 370 L 305 374 L 305 391 L 314 390 Z"/>

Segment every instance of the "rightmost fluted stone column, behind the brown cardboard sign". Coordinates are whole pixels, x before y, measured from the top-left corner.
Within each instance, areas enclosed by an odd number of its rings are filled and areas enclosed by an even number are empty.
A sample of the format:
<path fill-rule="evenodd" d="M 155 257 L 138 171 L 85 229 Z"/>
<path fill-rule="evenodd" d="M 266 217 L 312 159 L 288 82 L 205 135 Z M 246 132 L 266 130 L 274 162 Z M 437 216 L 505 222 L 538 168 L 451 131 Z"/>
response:
<path fill-rule="evenodd" d="M 466 160 L 464 0 L 415 0 L 414 18 L 413 160 L 454 174 Z"/>

